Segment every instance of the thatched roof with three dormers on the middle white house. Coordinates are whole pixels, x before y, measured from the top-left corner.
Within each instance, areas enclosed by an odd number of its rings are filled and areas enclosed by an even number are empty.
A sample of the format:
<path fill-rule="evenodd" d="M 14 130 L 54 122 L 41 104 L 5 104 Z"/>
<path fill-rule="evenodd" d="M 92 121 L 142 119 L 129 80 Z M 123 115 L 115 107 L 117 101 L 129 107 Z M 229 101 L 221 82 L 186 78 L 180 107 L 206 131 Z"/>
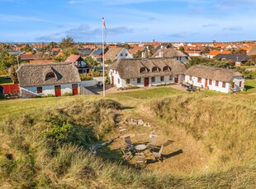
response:
<path fill-rule="evenodd" d="M 145 67 L 146 71 L 140 73 L 142 67 Z M 152 72 L 153 67 L 158 67 L 158 71 Z M 168 70 L 163 71 L 164 67 L 168 67 Z M 174 58 L 120 59 L 111 64 L 110 69 L 118 71 L 122 79 L 180 75 L 186 71 L 184 64 Z"/>

